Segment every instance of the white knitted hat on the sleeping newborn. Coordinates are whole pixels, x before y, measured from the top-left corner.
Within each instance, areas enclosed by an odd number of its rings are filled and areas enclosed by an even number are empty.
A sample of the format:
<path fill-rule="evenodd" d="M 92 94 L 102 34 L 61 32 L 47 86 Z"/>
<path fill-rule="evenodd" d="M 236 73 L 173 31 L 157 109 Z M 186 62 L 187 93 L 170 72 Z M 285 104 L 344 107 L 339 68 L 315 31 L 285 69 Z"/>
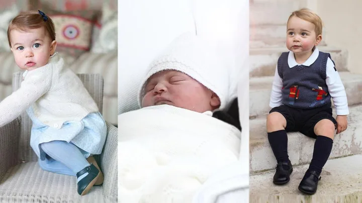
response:
<path fill-rule="evenodd" d="M 223 109 L 228 103 L 229 70 L 223 67 L 222 59 L 212 42 L 192 33 L 185 33 L 174 39 L 149 65 L 149 71 L 138 90 L 140 107 L 147 79 L 162 70 L 178 70 L 211 89 L 220 98 L 219 109 Z"/>

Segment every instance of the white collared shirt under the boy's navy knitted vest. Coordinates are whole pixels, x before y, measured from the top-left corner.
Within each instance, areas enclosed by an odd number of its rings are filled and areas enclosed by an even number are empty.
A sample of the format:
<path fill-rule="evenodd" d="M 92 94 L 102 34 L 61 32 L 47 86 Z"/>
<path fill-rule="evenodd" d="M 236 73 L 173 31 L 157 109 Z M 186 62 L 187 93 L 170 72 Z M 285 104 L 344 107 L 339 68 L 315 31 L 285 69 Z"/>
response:
<path fill-rule="evenodd" d="M 317 60 L 318 55 L 319 55 L 319 50 L 316 47 L 312 55 L 303 64 L 298 64 L 294 58 L 294 53 L 290 51 L 288 55 L 289 68 L 293 68 L 296 65 L 310 66 Z M 340 79 L 338 72 L 334 69 L 334 63 L 329 57 L 327 60 L 326 75 L 327 75 L 326 84 L 328 86 L 329 94 L 333 99 L 333 103 L 336 108 L 336 114 L 348 115 L 349 111 L 347 104 L 347 95 L 344 90 L 342 80 Z M 282 87 L 283 87 L 283 80 L 278 74 L 278 65 L 277 65 L 276 72 L 274 75 L 273 86 L 272 86 L 272 94 L 270 95 L 270 102 L 269 102 L 270 107 L 274 108 L 282 105 Z"/>

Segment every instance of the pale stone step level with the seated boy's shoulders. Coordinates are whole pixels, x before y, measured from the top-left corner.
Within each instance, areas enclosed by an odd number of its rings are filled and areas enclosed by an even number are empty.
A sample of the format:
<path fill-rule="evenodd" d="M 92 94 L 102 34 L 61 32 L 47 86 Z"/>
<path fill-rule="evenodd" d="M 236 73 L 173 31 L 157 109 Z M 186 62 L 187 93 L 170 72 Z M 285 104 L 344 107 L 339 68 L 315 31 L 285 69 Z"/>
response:
<path fill-rule="evenodd" d="M 348 52 L 347 50 L 334 48 L 330 46 L 318 46 L 322 52 L 331 54 L 338 71 L 348 70 Z M 282 52 L 287 52 L 287 47 L 275 48 L 257 48 L 249 50 L 249 75 L 250 77 L 274 75 L 277 67 L 278 58 Z"/>

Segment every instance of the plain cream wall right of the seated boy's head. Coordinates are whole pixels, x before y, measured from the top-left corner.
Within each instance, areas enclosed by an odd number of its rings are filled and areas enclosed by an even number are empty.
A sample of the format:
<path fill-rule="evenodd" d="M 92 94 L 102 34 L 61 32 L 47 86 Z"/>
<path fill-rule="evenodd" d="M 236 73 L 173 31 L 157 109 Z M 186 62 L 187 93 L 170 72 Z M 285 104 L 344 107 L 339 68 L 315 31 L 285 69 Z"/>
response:
<path fill-rule="evenodd" d="M 317 13 L 324 22 L 327 45 L 347 49 L 348 69 L 362 74 L 362 1 L 318 0 Z M 333 3 L 332 3 L 333 2 Z"/>

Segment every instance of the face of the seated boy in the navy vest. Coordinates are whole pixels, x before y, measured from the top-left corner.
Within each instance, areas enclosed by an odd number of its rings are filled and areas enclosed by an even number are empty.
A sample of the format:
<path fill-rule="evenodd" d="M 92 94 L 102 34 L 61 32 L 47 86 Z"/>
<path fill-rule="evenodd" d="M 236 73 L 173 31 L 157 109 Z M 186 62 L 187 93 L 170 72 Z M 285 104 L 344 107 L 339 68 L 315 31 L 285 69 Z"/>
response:
<path fill-rule="evenodd" d="M 293 16 L 287 24 L 287 48 L 295 54 L 312 52 L 322 40 L 322 35 L 316 36 L 314 24 Z"/>

